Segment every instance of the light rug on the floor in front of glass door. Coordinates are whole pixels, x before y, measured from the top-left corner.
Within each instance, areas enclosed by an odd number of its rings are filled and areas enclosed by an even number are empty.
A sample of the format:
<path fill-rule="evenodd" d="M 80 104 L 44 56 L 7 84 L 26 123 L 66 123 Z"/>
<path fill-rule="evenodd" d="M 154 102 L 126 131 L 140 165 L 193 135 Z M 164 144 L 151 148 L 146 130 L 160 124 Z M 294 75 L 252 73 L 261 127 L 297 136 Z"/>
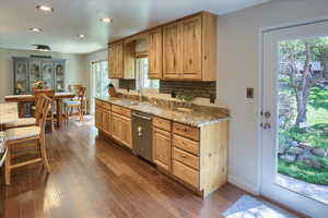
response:
<path fill-rule="evenodd" d="M 222 214 L 225 218 L 295 218 L 269 203 L 243 195 Z"/>

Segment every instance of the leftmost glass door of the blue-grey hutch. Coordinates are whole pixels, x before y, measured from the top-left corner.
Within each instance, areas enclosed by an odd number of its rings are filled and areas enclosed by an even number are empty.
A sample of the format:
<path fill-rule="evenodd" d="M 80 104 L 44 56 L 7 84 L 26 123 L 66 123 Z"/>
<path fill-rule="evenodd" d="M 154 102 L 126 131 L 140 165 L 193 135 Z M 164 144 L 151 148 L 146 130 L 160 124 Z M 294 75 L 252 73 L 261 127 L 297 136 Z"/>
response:
<path fill-rule="evenodd" d="M 28 92 L 28 61 L 14 60 L 14 94 Z"/>

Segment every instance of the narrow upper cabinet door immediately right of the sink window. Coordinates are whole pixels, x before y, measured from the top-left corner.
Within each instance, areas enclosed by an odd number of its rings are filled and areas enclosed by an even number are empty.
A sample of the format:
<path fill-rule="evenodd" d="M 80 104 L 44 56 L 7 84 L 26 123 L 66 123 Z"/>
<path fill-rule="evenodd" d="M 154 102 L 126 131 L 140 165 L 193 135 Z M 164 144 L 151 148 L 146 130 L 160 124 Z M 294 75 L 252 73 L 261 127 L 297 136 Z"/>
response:
<path fill-rule="evenodd" d="M 149 78 L 162 78 L 162 28 L 149 34 Z"/>

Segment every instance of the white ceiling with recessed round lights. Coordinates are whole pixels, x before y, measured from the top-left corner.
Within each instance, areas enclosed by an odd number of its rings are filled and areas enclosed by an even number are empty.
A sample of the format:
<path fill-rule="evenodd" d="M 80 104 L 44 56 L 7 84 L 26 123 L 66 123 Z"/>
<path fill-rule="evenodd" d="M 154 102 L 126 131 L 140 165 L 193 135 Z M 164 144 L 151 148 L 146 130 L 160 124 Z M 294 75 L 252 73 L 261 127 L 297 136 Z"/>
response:
<path fill-rule="evenodd" d="M 89 53 L 108 40 L 199 11 L 224 14 L 270 0 L 1 0 L 0 48 L 33 50 L 49 45 L 54 51 Z M 36 10 L 46 4 L 54 13 Z M 104 24 L 101 17 L 113 17 Z M 31 27 L 43 28 L 32 33 Z M 78 38 L 85 34 L 85 38 Z"/>

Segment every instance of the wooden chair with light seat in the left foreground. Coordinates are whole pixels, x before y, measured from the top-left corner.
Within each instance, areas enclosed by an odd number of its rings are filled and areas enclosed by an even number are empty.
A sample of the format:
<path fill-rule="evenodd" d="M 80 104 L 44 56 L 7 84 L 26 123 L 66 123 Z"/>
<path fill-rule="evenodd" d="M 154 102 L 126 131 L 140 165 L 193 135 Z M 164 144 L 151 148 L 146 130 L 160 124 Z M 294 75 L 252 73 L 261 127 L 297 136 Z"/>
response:
<path fill-rule="evenodd" d="M 50 110 L 50 105 L 52 100 L 45 96 L 44 94 L 36 96 L 36 111 L 35 119 L 36 124 L 34 126 L 27 128 L 14 128 L 5 130 L 5 140 L 8 146 L 8 154 L 4 162 L 4 180 L 5 184 L 10 184 L 11 180 L 11 171 L 15 168 L 36 164 L 42 161 L 45 166 L 47 172 L 50 172 L 49 162 L 47 159 L 46 153 L 46 144 L 45 144 L 45 125 L 47 120 L 47 114 Z M 39 147 L 40 157 L 30 159 L 27 161 L 22 161 L 17 164 L 12 164 L 11 161 L 11 153 L 14 145 L 24 146 L 26 143 L 36 142 L 36 146 Z"/>

